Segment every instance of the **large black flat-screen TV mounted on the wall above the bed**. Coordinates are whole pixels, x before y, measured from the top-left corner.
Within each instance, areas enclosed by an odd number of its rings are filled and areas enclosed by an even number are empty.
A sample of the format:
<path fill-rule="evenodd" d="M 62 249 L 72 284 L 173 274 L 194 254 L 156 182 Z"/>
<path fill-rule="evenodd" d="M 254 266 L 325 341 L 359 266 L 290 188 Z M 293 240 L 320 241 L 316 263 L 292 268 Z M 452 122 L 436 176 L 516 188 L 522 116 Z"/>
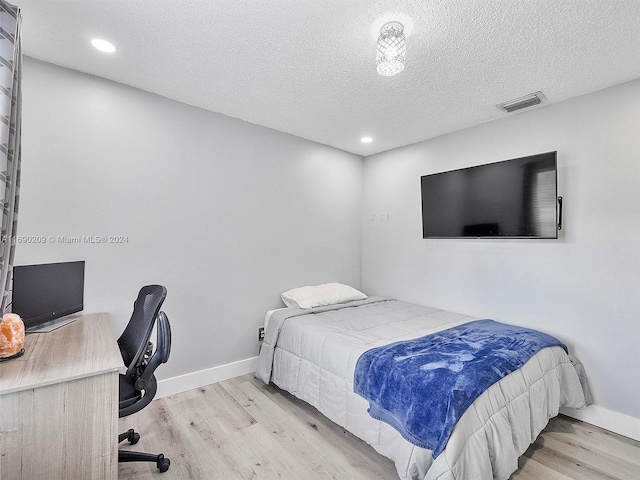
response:
<path fill-rule="evenodd" d="M 558 238 L 556 152 L 424 175 L 423 238 Z"/>

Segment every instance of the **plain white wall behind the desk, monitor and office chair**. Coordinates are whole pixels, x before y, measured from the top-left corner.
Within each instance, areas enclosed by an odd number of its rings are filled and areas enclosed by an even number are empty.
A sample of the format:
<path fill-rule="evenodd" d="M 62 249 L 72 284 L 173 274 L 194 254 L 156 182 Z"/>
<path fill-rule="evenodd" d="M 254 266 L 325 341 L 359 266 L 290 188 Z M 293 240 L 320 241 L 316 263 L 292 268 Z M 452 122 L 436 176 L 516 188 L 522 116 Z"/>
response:
<path fill-rule="evenodd" d="M 360 286 L 362 158 L 26 58 L 16 264 L 86 260 L 85 311 L 119 334 L 167 287 L 168 378 L 254 357 L 279 294 Z M 241 98 L 238 101 L 242 101 Z"/>

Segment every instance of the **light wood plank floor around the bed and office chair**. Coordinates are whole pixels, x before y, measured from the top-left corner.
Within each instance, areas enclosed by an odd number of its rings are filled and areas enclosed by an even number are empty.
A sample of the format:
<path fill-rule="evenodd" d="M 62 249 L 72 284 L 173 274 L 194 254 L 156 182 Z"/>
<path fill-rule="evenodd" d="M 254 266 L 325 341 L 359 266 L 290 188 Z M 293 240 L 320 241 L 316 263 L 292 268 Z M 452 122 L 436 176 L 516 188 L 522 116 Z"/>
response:
<path fill-rule="evenodd" d="M 119 420 L 171 468 L 120 464 L 119 478 L 397 479 L 393 463 L 314 408 L 252 375 L 154 400 Z M 640 442 L 559 416 L 520 459 L 513 480 L 640 479 Z M 472 479 L 469 479 L 472 480 Z"/>

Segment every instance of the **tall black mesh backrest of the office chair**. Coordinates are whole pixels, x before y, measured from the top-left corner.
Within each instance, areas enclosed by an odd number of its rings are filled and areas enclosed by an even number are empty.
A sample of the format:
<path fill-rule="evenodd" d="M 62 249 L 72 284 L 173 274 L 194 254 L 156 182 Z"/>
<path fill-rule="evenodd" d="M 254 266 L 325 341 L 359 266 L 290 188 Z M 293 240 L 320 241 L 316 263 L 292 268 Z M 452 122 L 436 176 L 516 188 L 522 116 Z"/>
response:
<path fill-rule="evenodd" d="M 142 287 L 133 304 L 131 319 L 118 339 L 122 360 L 127 366 L 126 376 L 132 380 L 140 373 L 153 325 L 166 296 L 167 289 L 162 285 Z"/>

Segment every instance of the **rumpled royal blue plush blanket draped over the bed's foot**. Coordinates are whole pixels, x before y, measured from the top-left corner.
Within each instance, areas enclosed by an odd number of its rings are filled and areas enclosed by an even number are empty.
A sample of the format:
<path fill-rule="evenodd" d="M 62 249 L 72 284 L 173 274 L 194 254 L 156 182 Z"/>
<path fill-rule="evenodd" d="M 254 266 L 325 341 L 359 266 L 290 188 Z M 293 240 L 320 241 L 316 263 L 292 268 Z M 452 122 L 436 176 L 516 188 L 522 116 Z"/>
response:
<path fill-rule="evenodd" d="M 477 320 L 363 353 L 354 390 L 369 414 L 436 458 L 467 408 L 536 352 L 567 347 L 536 330 Z"/>

